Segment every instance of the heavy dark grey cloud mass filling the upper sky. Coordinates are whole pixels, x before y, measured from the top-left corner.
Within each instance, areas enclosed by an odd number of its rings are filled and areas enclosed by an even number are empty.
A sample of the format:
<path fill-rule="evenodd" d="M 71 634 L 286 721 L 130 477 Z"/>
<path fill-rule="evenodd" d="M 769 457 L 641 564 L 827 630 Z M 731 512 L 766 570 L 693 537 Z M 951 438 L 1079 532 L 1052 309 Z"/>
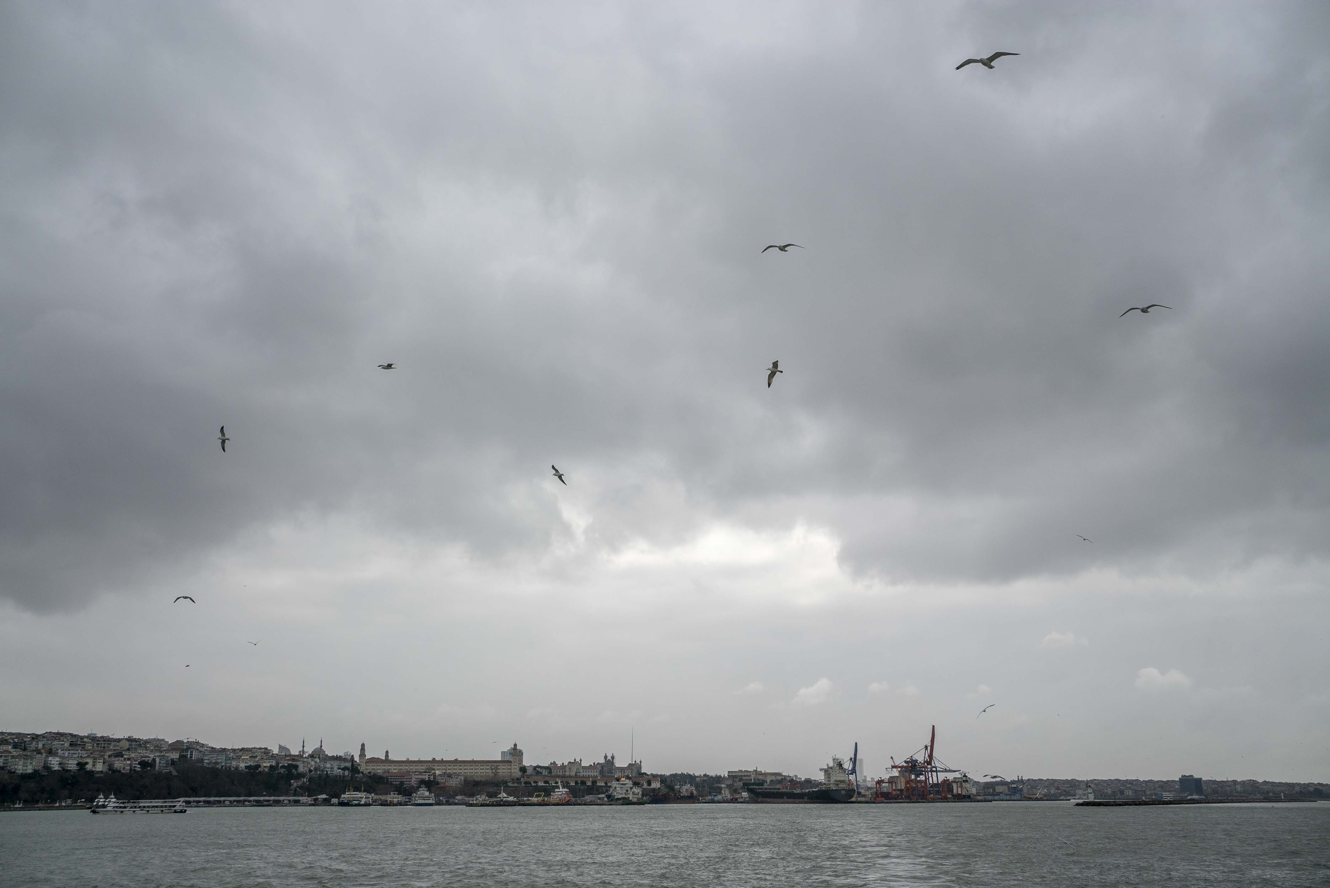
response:
<path fill-rule="evenodd" d="M 306 513 L 540 550 L 549 463 L 597 548 L 802 517 L 923 580 L 1076 572 L 1072 533 L 1128 572 L 1325 554 L 1318 7 L 0 15 L 27 608 Z"/>

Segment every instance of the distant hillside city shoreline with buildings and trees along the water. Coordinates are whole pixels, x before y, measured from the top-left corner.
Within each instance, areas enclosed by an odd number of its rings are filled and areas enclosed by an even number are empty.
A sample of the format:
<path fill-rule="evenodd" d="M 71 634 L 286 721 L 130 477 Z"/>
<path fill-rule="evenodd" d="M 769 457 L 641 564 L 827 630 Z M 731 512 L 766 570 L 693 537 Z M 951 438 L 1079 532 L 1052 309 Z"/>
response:
<path fill-rule="evenodd" d="M 834 759 L 841 766 L 841 759 Z M 197 739 L 109 736 L 65 731 L 0 731 L 0 787 L 23 775 L 82 771 L 92 775 L 177 772 L 186 767 L 243 771 L 285 779 L 293 795 L 301 788 L 325 791 L 374 790 L 383 798 L 428 791 L 440 800 L 476 791 L 476 787 L 507 787 L 521 795 L 559 787 L 573 798 L 608 794 L 616 784 L 630 786 L 637 798 L 728 802 L 746 799 L 754 787 L 782 787 L 810 791 L 822 780 L 795 774 L 733 768 L 717 774 L 650 772 L 641 762 L 618 764 L 613 754 L 598 762 L 580 758 L 548 764 L 527 764 L 525 754 L 515 742 L 497 759 L 394 759 L 390 750 L 368 755 L 362 743 L 358 752 L 330 752 L 322 739 L 313 748 L 302 740 L 298 750 L 278 744 L 219 747 Z M 826 774 L 827 768 L 823 770 Z M 850 771 L 857 794 L 882 795 L 896 778 L 871 780 Z M 994 778 L 975 780 L 964 772 L 948 778 L 944 792 L 962 798 L 1019 799 L 1178 799 L 1178 798 L 1330 798 L 1330 784 L 1278 780 L 1221 780 L 1190 774 L 1176 780 L 1140 780 L 1129 778 Z M 500 788 L 500 794 L 504 790 Z"/>

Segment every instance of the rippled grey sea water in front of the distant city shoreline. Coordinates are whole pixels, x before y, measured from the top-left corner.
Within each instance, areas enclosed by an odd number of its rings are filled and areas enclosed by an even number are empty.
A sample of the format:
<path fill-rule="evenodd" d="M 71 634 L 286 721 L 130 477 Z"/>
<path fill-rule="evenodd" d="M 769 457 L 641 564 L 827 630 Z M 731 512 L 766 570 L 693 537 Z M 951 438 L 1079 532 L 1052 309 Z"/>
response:
<path fill-rule="evenodd" d="M 0 884 L 1330 885 L 1330 803 L 0 814 Z"/>

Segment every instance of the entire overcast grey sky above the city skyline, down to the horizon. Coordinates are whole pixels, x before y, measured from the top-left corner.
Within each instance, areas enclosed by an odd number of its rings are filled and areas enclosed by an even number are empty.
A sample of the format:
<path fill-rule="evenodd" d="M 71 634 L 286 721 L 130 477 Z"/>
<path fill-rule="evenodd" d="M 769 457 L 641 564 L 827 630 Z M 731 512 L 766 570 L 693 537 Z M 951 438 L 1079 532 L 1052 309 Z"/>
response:
<path fill-rule="evenodd" d="M 1327 44 L 0 4 L 0 728 L 1330 780 Z"/>

